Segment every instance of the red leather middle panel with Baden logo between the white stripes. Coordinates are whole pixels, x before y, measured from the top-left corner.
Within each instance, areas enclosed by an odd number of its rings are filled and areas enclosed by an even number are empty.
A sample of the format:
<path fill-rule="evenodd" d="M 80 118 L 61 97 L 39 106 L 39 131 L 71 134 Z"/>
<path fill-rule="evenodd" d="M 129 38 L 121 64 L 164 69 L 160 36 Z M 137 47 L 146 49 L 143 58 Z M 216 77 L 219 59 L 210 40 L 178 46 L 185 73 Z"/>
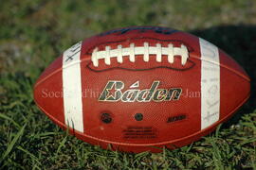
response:
<path fill-rule="evenodd" d="M 112 69 L 94 72 L 86 67 L 90 62 L 90 60 L 86 60 L 89 57 L 82 58 L 84 59 L 81 65 L 82 93 L 86 95 L 82 98 L 84 133 L 92 137 L 100 136 L 99 140 L 109 142 L 155 144 L 172 141 L 200 130 L 200 75 L 194 74 L 200 73 L 199 59 L 192 59 L 196 64 L 188 71 L 162 68 L 148 71 Z M 123 59 L 123 62 L 130 62 L 128 58 Z M 155 56 L 151 56 L 150 60 L 155 62 Z M 111 64 L 115 61 L 115 59 L 111 60 Z M 142 59 L 142 56 L 138 56 L 136 62 L 138 65 L 149 64 Z M 167 62 L 167 60 L 163 58 L 163 62 Z M 175 58 L 174 64 L 180 62 L 180 58 Z M 99 67 L 101 64 L 105 64 L 103 60 L 99 61 Z M 171 101 L 169 104 L 168 102 L 157 103 L 153 101 L 99 101 L 99 97 L 109 81 L 112 81 L 112 83 L 122 82 L 125 86 L 123 92 L 127 91 L 136 82 L 139 82 L 138 89 L 143 90 L 150 89 L 154 81 L 160 81 L 159 88 L 181 87 L 183 93 L 179 101 Z M 138 122 L 135 119 L 137 113 L 143 113 L 143 121 Z M 101 120 L 101 115 L 107 115 L 112 122 L 104 123 Z M 184 115 L 186 120 L 172 122 L 179 119 L 179 116 Z M 169 123 L 167 123 L 168 121 Z M 180 128 L 180 126 L 187 128 Z M 136 128 L 149 128 L 144 130 L 153 133 L 152 136 L 148 136 L 152 139 L 136 139 L 135 135 L 139 135 L 138 133 L 129 136 L 128 132 L 134 132 L 137 130 Z M 124 135 L 124 133 L 127 135 Z M 141 130 L 139 133 L 142 133 Z"/>

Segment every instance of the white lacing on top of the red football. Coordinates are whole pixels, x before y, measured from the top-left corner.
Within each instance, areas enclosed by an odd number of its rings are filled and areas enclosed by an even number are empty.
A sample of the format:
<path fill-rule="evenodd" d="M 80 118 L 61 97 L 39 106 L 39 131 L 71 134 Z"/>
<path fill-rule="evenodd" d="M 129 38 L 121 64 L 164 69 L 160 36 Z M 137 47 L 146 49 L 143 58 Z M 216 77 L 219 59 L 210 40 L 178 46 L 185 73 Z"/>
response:
<path fill-rule="evenodd" d="M 174 63 L 174 56 L 181 57 L 181 64 L 184 65 L 189 58 L 189 51 L 184 44 L 180 47 L 174 47 L 174 44 L 169 43 L 168 47 L 162 47 L 160 43 L 156 43 L 155 46 L 149 46 L 149 42 L 144 42 L 143 46 L 135 46 L 135 43 L 131 43 L 129 47 L 122 47 L 120 44 L 116 49 L 110 49 L 110 46 L 106 46 L 105 50 L 99 51 L 95 48 L 92 53 L 92 62 L 95 67 L 99 66 L 99 59 L 104 59 L 105 64 L 111 64 L 111 58 L 117 58 L 119 63 L 123 62 L 123 57 L 129 57 L 131 62 L 136 61 L 137 55 L 143 55 L 145 62 L 149 61 L 150 55 L 155 55 L 157 62 L 162 61 L 162 56 L 166 55 L 168 62 Z"/>

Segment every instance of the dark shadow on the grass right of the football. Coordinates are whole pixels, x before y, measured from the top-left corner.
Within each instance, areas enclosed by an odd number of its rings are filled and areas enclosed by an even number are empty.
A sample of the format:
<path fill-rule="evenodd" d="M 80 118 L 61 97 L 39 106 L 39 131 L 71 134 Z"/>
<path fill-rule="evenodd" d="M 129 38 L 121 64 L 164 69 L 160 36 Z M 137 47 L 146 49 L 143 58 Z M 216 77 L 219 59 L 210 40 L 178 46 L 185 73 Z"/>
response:
<path fill-rule="evenodd" d="M 225 124 L 225 127 L 229 127 L 229 125 L 237 123 L 244 114 L 256 110 L 256 26 L 214 26 L 190 32 L 226 51 L 250 76 L 250 98 L 241 110 Z"/>

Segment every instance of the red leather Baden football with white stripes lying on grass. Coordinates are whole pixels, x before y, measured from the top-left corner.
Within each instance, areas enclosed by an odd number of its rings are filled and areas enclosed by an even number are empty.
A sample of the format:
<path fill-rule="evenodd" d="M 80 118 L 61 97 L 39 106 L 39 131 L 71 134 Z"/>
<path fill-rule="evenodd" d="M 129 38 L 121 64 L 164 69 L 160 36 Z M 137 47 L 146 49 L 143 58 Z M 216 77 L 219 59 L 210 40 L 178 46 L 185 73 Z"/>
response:
<path fill-rule="evenodd" d="M 199 140 L 249 93 L 247 73 L 224 51 L 159 26 L 78 42 L 34 85 L 36 105 L 58 126 L 86 143 L 135 153 Z"/>

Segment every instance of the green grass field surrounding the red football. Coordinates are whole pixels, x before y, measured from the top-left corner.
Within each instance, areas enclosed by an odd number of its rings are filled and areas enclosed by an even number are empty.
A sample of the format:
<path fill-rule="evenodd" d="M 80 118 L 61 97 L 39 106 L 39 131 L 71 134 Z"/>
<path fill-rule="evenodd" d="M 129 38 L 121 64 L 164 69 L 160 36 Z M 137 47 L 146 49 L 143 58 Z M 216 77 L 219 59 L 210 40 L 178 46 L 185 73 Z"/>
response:
<path fill-rule="evenodd" d="M 0 0 L 0 169 L 256 169 L 256 1 Z M 162 153 L 102 150 L 69 136 L 35 106 L 32 87 L 75 42 L 121 26 L 168 26 L 224 49 L 251 77 L 229 122 Z"/>

